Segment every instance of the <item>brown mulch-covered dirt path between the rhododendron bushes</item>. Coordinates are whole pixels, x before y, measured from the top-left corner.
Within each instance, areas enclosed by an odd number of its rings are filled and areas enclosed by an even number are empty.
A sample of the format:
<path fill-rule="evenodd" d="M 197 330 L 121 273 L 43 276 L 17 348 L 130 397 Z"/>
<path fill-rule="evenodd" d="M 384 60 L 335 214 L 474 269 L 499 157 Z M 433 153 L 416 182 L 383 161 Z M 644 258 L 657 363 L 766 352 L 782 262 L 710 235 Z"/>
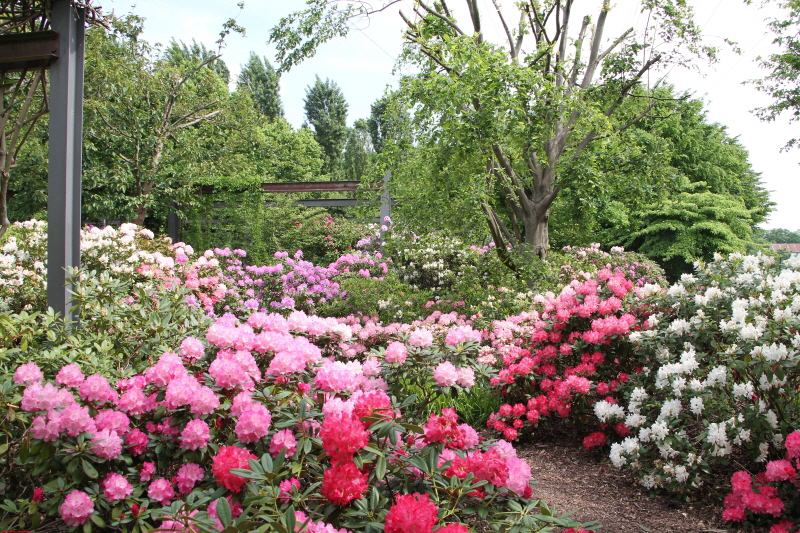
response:
<path fill-rule="evenodd" d="M 602 524 L 603 533 L 750 533 L 722 518 L 718 497 L 680 502 L 668 496 L 649 497 L 636 479 L 617 470 L 599 452 L 580 445 L 548 441 L 518 448 L 531 465 L 534 498 L 555 506 L 559 513 L 576 511 L 573 518 Z"/>

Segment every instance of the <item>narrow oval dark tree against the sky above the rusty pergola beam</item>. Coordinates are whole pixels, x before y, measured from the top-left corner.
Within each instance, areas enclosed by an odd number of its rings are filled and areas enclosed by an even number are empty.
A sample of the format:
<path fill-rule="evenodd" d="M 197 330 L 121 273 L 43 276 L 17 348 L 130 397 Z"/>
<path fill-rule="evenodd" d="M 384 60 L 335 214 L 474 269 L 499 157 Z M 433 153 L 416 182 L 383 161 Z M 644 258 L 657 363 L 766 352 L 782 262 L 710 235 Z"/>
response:
<path fill-rule="evenodd" d="M 323 172 L 330 174 L 337 169 L 347 140 L 347 100 L 335 82 L 317 76 L 314 85 L 306 87 L 303 105 L 306 121 L 325 153 Z"/>

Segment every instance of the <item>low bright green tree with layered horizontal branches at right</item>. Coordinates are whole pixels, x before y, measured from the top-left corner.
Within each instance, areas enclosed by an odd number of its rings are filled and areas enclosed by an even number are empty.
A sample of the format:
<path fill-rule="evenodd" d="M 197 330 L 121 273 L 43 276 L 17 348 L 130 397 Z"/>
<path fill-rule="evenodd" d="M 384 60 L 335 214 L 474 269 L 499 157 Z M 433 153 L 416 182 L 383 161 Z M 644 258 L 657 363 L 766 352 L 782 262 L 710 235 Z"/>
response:
<path fill-rule="evenodd" d="M 658 260 L 671 279 L 691 271 L 715 253 L 744 252 L 752 240 L 753 215 L 744 202 L 687 184 L 677 198 L 654 204 L 639 215 L 626 247 Z"/>

